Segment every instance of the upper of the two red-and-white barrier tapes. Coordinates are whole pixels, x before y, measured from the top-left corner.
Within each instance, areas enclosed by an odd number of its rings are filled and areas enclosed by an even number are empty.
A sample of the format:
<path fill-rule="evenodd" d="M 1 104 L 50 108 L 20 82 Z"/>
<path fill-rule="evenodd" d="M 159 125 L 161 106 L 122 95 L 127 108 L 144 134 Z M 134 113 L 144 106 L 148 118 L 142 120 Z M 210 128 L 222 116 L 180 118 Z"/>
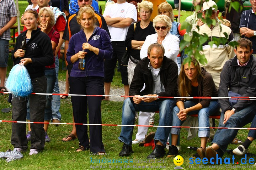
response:
<path fill-rule="evenodd" d="M 11 92 L 2 92 L 0 93 L 11 93 Z M 78 94 L 57 94 L 57 93 L 31 93 L 32 95 L 56 95 L 56 96 L 94 96 L 94 97 L 135 97 L 135 96 L 125 96 L 125 95 L 78 95 Z M 136 96 L 137 97 L 137 96 Z M 204 99 L 233 99 L 233 100 L 256 100 L 256 97 L 177 97 L 177 96 L 140 96 L 140 97 L 147 97 L 147 98 L 204 98 Z"/>

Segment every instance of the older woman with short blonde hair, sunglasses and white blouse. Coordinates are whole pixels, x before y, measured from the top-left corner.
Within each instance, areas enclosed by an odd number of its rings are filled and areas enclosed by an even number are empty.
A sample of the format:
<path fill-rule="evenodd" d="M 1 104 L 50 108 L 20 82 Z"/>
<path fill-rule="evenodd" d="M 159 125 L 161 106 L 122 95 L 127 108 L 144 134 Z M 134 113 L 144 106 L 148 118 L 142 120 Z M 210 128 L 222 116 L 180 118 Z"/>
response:
<path fill-rule="evenodd" d="M 156 33 L 146 37 L 140 50 L 140 58 L 143 59 L 147 57 L 149 45 L 158 42 L 164 46 L 165 56 L 175 61 L 178 66 L 177 55 L 180 50 L 179 39 L 177 36 L 170 34 L 170 29 L 172 27 L 171 19 L 165 15 L 158 15 L 153 19 L 153 27 L 155 28 Z M 180 72 L 179 66 L 178 71 Z"/>

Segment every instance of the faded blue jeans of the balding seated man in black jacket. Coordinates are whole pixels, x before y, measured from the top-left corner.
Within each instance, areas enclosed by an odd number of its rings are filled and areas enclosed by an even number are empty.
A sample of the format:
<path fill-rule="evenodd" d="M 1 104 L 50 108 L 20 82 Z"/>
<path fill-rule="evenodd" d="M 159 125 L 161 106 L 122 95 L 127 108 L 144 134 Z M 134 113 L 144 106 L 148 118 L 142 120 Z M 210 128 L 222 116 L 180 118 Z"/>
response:
<path fill-rule="evenodd" d="M 127 98 L 123 104 L 122 125 L 133 125 L 135 112 L 156 112 L 159 111 L 159 126 L 171 126 L 172 122 L 172 108 L 175 105 L 174 99 L 167 99 L 164 101 L 140 102 L 134 104 Z M 164 146 L 166 145 L 171 128 L 158 127 L 155 134 L 155 139 L 160 141 Z M 121 134 L 118 139 L 126 145 L 132 145 L 133 126 L 122 126 Z"/>

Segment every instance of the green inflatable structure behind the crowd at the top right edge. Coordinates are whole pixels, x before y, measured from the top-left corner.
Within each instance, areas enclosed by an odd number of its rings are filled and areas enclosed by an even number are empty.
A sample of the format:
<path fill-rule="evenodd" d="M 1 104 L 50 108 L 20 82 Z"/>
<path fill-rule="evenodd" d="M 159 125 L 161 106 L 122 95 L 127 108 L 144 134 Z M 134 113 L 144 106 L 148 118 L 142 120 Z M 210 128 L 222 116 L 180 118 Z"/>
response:
<path fill-rule="evenodd" d="M 169 4 L 171 4 L 172 8 L 174 8 L 174 0 L 166 0 Z M 225 2 L 224 0 L 219 0 L 217 2 L 218 10 L 220 12 L 225 11 Z M 251 8 L 250 0 L 244 0 L 244 10 L 249 10 Z M 181 10 L 185 11 L 193 11 L 194 7 L 192 4 L 192 0 L 181 0 Z"/>

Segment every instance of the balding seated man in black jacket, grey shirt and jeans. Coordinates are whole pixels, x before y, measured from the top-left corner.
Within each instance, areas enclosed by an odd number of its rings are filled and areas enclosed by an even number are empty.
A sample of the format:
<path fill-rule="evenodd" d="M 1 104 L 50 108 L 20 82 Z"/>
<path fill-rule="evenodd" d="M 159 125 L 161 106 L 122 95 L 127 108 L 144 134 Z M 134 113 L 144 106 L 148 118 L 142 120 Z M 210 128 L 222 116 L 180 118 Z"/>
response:
<path fill-rule="evenodd" d="M 129 95 L 123 104 L 122 124 L 133 125 L 135 112 L 159 111 L 159 126 L 170 126 L 172 122 L 172 108 L 175 100 L 160 98 L 176 96 L 177 93 L 177 64 L 164 56 L 164 47 L 158 43 L 148 48 L 148 57 L 139 61 L 134 69 L 134 76 L 130 85 Z M 145 84 L 145 88 L 143 86 Z M 143 89 L 143 90 L 142 90 Z M 148 96 L 148 97 L 142 97 Z M 154 97 L 151 97 L 154 96 Z M 165 155 L 166 141 L 170 128 L 158 127 L 155 134 L 155 149 L 148 155 L 148 159 L 162 158 Z M 118 137 L 123 142 L 119 156 L 128 156 L 132 151 L 133 126 L 122 126 Z"/>

